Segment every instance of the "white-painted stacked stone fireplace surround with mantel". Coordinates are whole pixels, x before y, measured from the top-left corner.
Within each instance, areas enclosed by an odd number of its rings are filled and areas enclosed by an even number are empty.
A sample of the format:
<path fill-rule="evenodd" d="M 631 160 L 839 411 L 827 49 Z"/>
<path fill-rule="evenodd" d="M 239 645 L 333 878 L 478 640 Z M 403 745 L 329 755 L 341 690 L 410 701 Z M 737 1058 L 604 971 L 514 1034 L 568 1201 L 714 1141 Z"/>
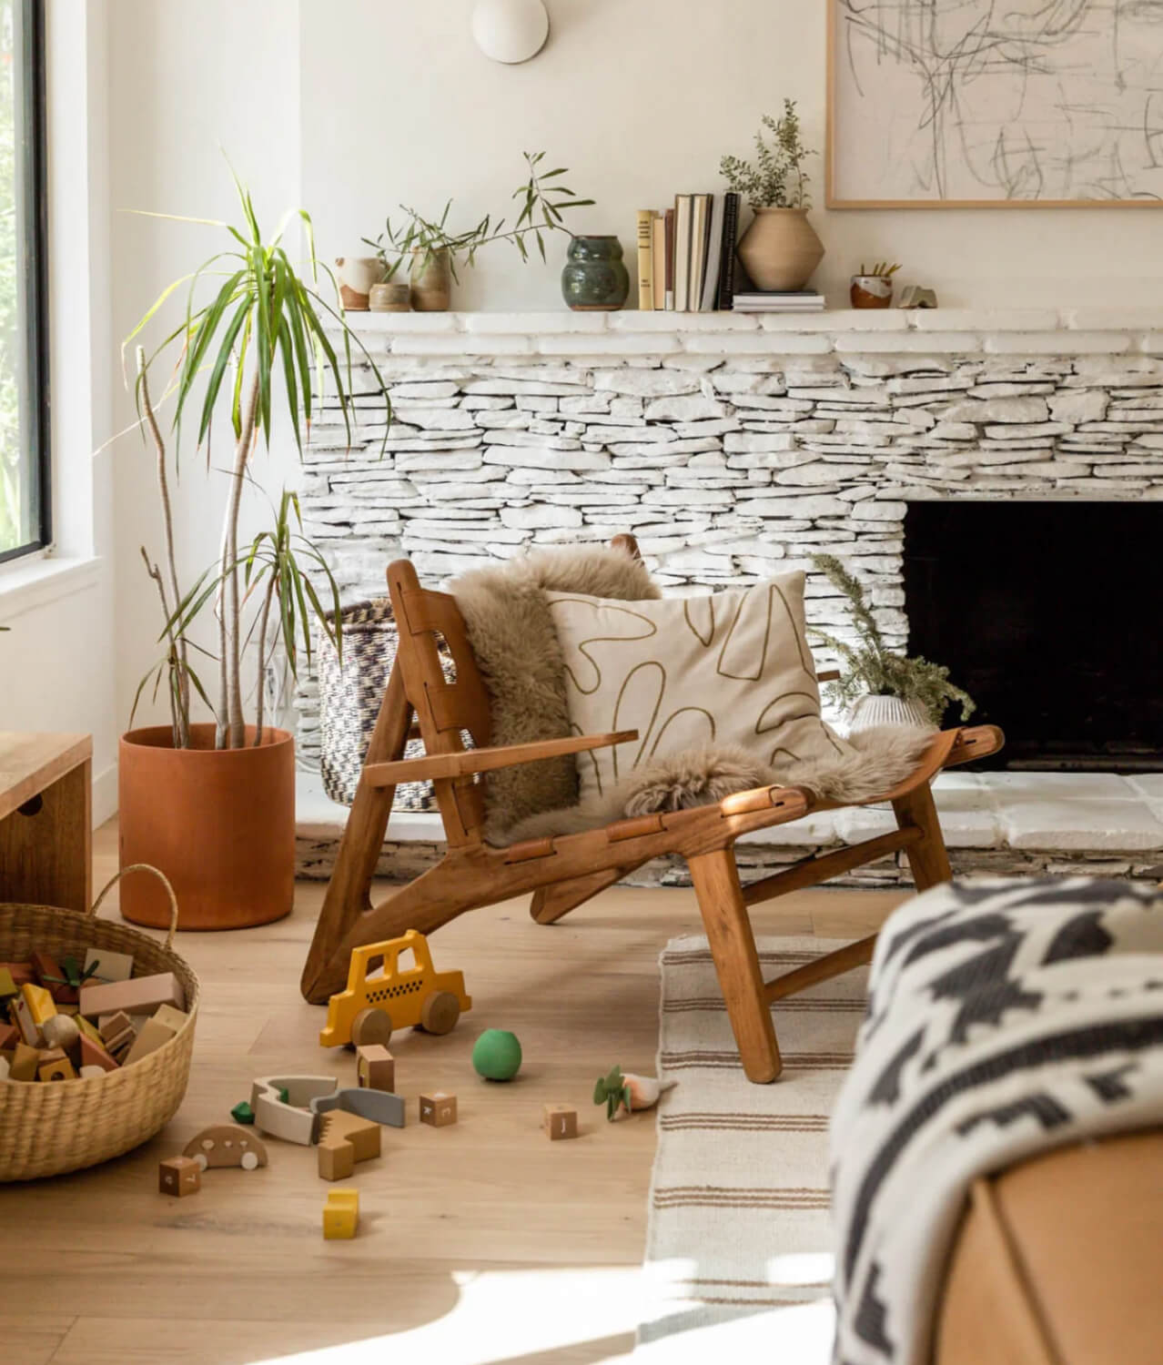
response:
<path fill-rule="evenodd" d="M 360 400 L 349 449 L 326 410 L 304 516 L 345 602 L 382 595 L 399 556 L 440 580 L 620 531 L 674 592 L 811 571 L 808 557 L 826 551 L 865 583 L 886 639 L 904 646 L 910 505 L 1163 500 L 1153 322 L 1110 310 L 367 315 L 362 339 L 392 386 L 386 450 L 377 400 Z M 373 386 L 370 370 L 358 379 Z M 844 605 L 819 575 L 808 605 L 814 624 L 844 631 Z M 299 700 L 310 759 L 310 687 Z M 1148 852 L 1152 835 L 1148 826 L 1115 852 Z M 841 822 L 812 837 L 848 834 Z M 756 860 L 811 846 L 756 845 Z M 1110 848 L 1078 854 L 1102 853 L 1122 875 L 1158 861 L 1112 860 Z M 977 852 L 981 865 L 1037 865 L 1010 842 Z M 872 870 L 898 875 L 893 863 Z"/>

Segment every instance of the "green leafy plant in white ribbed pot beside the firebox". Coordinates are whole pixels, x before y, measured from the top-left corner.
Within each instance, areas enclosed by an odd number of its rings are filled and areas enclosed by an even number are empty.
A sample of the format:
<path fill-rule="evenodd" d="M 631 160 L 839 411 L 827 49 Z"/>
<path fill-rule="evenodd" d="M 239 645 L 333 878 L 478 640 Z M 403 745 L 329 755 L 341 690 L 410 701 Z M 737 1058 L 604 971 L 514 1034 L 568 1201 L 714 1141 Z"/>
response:
<path fill-rule="evenodd" d="M 968 692 L 949 681 L 949 669 L 928 659 L 893 654 L 864 598 L 864 588 L 831 554 L 812 556 L 812 564 L 848 598 L 859 644 L 850 646 L 826 631 L 811 628 L 841 661 L 841 674 L 826 684 L 829 700 L 848 711 L 850 730 L 874 725 L 936 726 L 950 702 L 961 706 L 968 721 L 976 706 Z"/>

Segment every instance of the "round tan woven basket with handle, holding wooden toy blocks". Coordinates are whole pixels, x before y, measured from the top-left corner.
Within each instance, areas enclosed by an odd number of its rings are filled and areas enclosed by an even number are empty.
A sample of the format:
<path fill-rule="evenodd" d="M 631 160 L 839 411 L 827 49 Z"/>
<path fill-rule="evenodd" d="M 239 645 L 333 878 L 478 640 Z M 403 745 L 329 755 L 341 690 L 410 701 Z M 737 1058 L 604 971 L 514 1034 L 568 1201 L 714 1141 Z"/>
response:
<path fill-rule="evenodd" d="M 153 872 L 169 891 L 172 920 L 165 943 L 111 920 L 97 909 L 127 872 Z M 186 1093 L 194 1051 L 198 977 L 173 951 L 177 902 L 157 868 L 123 868 L 87 915 L 48 905 L 0 905 L 0 960 L 26 961 L 34 949 L 78 960 L 90 947 L 131 953 L 134 975 L 173 972 L 190 1018 L 168 1043 L 131 1066 L 75 1081 L 0 1081 L 0 1182 L 33 1181 L 108 1162 L 149 1141 L 173 1117 Z"/>

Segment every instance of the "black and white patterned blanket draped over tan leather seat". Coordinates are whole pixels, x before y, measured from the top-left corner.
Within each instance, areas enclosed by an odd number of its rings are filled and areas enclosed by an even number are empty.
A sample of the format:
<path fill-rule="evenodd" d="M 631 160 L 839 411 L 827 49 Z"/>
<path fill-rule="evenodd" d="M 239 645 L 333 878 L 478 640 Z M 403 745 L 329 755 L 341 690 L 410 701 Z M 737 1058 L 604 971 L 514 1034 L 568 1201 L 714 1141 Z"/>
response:
<path fill-rule="evenodd" d="M 886 923 L 831 1119 L 837 1365 L 923 1365 L 971 1182 L 1163 1122 L 1163 893 L 941 886 Z"/>

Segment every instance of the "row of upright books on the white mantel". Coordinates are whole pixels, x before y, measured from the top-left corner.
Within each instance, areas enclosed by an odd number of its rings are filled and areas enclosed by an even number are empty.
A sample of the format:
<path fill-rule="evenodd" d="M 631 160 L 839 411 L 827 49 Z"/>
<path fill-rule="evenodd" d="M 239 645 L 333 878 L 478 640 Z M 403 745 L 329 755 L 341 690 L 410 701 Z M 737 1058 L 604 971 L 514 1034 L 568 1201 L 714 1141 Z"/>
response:
<path fill-rule="evenodd" d="M 677 194 L 637 210 L 637 306 L 676 313 L 729 308 L 734 296 L 737 194 Z"/>

